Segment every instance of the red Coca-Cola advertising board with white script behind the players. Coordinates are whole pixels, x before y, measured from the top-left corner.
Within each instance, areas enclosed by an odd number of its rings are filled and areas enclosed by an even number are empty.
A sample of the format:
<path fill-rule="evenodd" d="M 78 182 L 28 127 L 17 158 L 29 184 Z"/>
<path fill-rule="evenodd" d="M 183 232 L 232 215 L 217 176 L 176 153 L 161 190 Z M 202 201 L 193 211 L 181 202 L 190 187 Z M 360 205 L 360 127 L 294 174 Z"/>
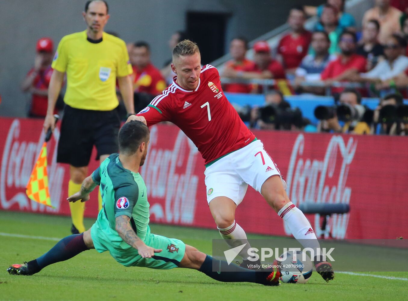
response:
<path fill-rule="evenodd" d="M 141 175 L 147 186 L 151 221 L 214 228 L 206 201 L 204 160 L 179 128 L 150 128 L 151 142 Z M 291 201 L 344 203 L 350 212 L 328 219 L 307 215 L 318 237 L 336 239 L 395 239 L 408 237 L 408 139 L 372 135 L 333 135 L 288 131 L 254 131 L 264 142 L 284 176 Z M 0 118 L 0 209 L 69 215 L 69 166 L 56 163 L 59 130 L 47 144 L 53 208 L 28 199 L 25 186 L 40 152 L 42 120 Z M 91 173 L 99 164 L 89 164 Z M 98 214 L 94 191 L 86 203 L 86 217 Z M 286 225 L 249 188 L 238 206 L 236 220 L 247 232 L 290 235 Z"/>

